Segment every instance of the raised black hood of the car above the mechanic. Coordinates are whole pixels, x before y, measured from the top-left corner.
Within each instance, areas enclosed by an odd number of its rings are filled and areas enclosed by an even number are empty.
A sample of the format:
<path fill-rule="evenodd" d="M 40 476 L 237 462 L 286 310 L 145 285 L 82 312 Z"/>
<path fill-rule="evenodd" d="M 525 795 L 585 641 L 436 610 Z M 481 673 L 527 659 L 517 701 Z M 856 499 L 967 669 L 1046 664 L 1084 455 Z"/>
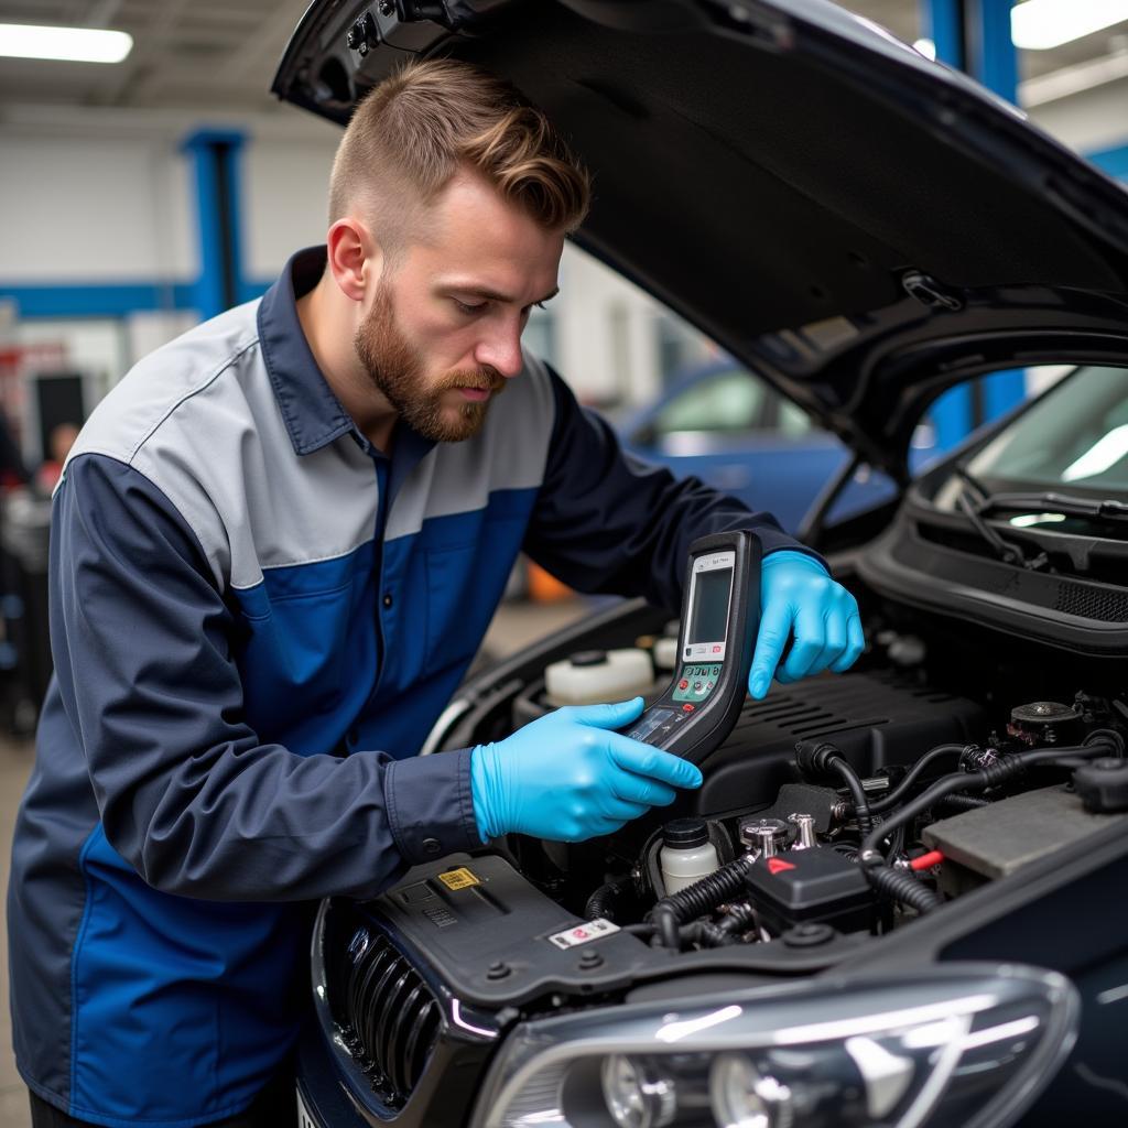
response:
<path fill-rule="evenodd" d="M 904 476 L 945 387 L 1128 362 L 1128 192 L 823 0 L 315 0 L 275 76 L 344 124 L 404 59 L 512 80 L 594 174 L 575 241 Z"/>

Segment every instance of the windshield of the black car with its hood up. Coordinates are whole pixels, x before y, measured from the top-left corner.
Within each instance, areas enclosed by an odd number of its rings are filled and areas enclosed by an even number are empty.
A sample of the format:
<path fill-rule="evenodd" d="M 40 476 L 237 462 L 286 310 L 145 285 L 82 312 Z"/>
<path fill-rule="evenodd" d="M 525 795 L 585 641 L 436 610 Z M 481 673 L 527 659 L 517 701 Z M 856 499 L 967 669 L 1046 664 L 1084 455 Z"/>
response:
<path fill-rule="evenodd" d="M 1128 370 L 1079 368 L 967 466 L 992 488 L 1128 495 Z"/>

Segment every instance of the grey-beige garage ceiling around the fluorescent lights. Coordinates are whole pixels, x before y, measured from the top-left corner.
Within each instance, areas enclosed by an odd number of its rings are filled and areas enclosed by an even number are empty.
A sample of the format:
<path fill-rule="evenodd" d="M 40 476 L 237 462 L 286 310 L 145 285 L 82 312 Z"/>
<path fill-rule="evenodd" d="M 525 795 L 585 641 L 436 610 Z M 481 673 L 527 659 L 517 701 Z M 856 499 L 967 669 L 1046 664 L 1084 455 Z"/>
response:
<path fill-rule="evenodd" d="M 0 59 L 0 105 L 259 113 L 275 64 L 308 0 L 0 0 L 0 23 L 129 32 L 120 65 Z M 846 0 L 846 7 L 911 43 L 919 0 Z M 1128 59 L 1128 21 L 1052 51 L 1024 52 L 1023 78 L 1095 59 Z M 1126 69 L 1128 73 L 1128 69 Z"/>

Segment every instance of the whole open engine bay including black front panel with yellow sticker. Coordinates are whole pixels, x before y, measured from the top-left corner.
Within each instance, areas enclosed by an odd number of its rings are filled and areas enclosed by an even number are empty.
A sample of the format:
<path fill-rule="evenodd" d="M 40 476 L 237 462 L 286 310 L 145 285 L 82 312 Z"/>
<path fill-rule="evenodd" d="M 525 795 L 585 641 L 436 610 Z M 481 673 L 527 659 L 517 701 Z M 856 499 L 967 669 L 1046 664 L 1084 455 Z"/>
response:
<path fill-rule="evenodd" d="M 967 636 L 958 668 L 952 640 L 878 623 L 860 669 L 746 700 L 704 785 L 675 807 L 606 839 L 511 836 L 490 855 L 413 871 L 371 910 L 464 999 L 558 1006 L 675 969 L 826 968 L 1123 829 L 1128 706 L 1107 684 L 1063 678 L 1056 699 L 1012 697 L 1054 668 L 1033 676 L 1030 655 L 999 660 Z M 637 642 L 658 658 L 663 637 Z M 990 662 L 988 691 L 959 691 Z M 949 677 L 929 677 L 937 663 Z M 557 704 L 544 678 L 527 678 L 492 724 Z"/>

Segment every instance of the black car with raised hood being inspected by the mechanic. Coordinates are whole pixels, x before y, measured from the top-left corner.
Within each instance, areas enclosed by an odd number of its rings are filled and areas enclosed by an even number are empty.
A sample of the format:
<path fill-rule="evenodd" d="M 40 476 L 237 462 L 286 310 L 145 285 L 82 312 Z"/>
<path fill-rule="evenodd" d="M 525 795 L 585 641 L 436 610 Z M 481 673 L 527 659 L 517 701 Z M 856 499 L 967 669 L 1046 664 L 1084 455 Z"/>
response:
<path fill-rule="evenodd" d="M 324 0 L 275 90 L 344 123 L 411 55 L 543 106 L 596 174 L 576 241 L 852 447 L 804 535 L 869 646 L 746 702 L 676 809 L 325 902 L 306 1123 L 1126 1122 L 1128 195 L 817 0 Z M 910 482 L 944 389 L 1041 365 Z M 899 496 L 828 522 L 860 467 Z M 576 651 L 660 655 L 669 617 L 478 675 L 424 752 L 541 715 Z M 675 818 L 723 864 L 670 895 Z"/>

